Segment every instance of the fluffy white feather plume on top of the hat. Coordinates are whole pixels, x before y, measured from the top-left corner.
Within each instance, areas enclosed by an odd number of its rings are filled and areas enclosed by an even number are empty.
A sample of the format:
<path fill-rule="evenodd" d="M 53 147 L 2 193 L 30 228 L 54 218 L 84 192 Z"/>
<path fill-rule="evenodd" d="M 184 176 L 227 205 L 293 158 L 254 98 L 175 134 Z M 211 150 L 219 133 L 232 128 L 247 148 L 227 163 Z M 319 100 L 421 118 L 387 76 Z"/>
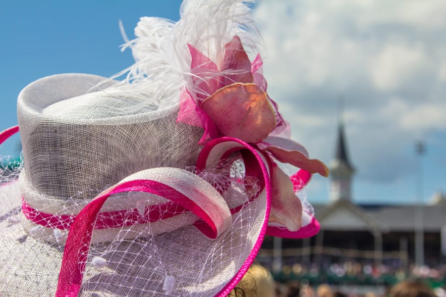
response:
<path fill-rule="evenodd" d="M 234 35 L 240 37 L 248 53 L 258 52 L 261 37 L 250 15 L 249 2 L 252 1 L 184 0 L 176 23 L 142 17 L 135 28 L 137 38 L 126 40 L 122 47 L 132 50 L 135 64 L 116 76 L 127 72 L 123 83 L 145 87 L 156 84 L 164 104 L 178 102 L 181 87 L 192 87 L 188 44 L 218 66 L 223 60 L 224 45 Z"/>

